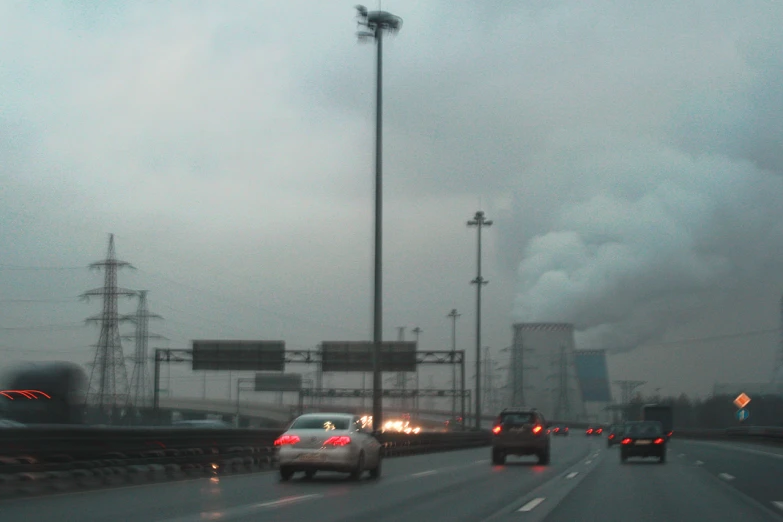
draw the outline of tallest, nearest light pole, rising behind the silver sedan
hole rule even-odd
[[[396,33],[402,27],[402,19],[386,11],[367,11],[356,6],[358,12],[359,40],[374,40],[376,44],[376,89],[375,89],[375,275],[373,285],[373,364],[372,364],[372,418],[373,431],[380,433],[383,425],[383,399],[381,383],[381,341],[382,322],[382,210],[383,210],[383,33]]]

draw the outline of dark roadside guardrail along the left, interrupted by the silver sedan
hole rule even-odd
[[[0,430],[0,496],[186,477],[275,465],[280,429],[25,427]],[[487,446],[489,432],[384,433],[385,457]]]

